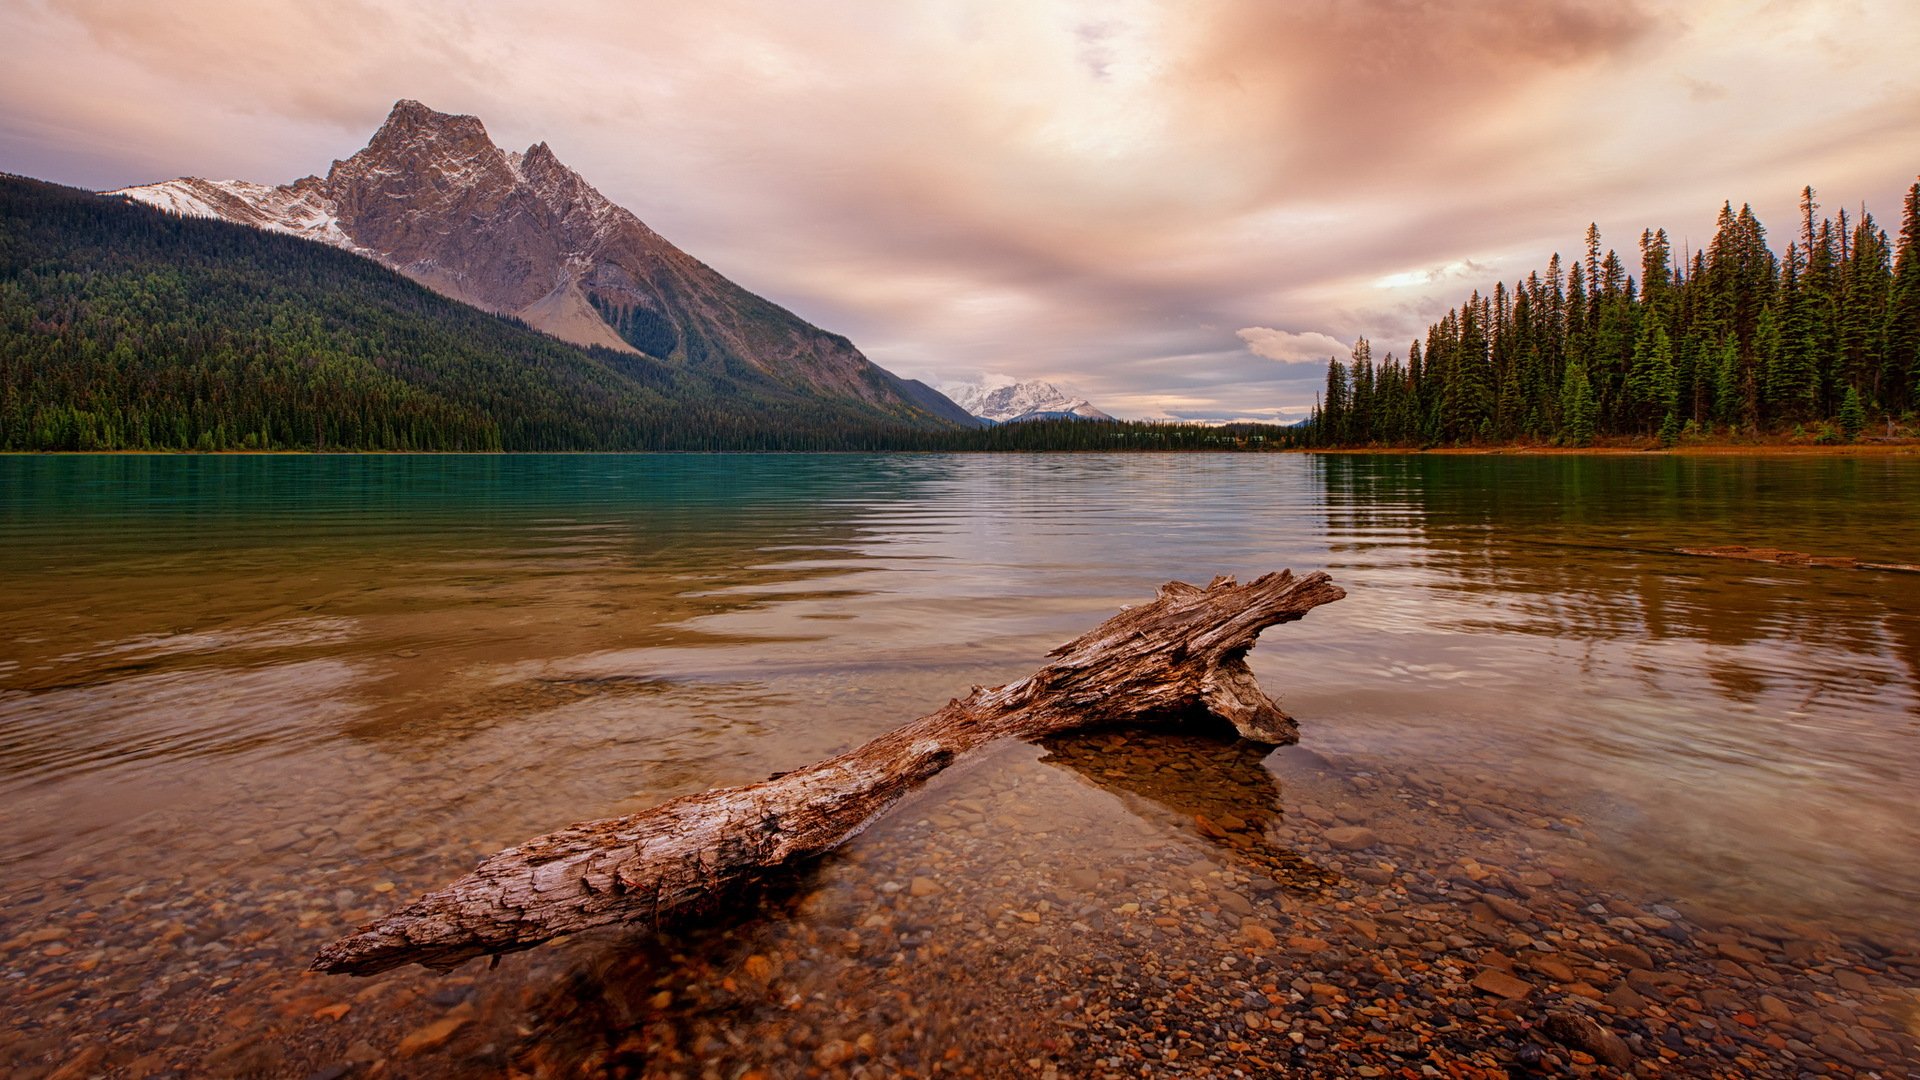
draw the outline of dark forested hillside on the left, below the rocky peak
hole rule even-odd
[[[574,346],[326,244],[0,173],[0,452],[937,450],[981,434]]]

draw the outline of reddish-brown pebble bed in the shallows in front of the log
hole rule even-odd
[[[1010,748],[724,920],[589,934],[449,976],[300,974],[313,945],[432,880],[344,888],[321,911],[259,859],[253,878],[159,890],[161,903],[73,876],[27,896],[38,917],[0,942],[0,1070],[1893,1078],[1920,1065],[1910,930],[1653,896],[1607,872],[1551,792],[1438,765],[1263,759],[1158,734]]]

